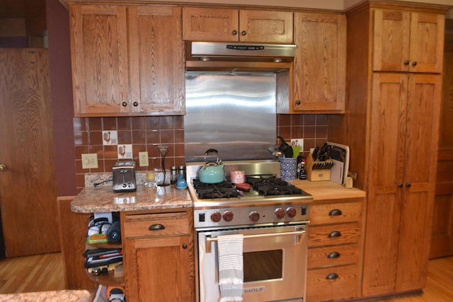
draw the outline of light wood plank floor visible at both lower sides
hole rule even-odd
[[[0,260],[0,294],[64,289],[62,255],[34,255]],[[379,302],[453,301],[453,257],[430,260],[427,286],[421,296],[375,300]]]

